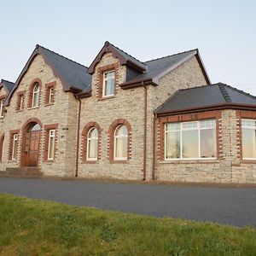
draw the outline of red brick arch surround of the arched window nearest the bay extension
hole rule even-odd
[[[119,125],[125,125],[128,131],[127,160],[131,159],[131,125],[126,119],[116,119],[108,128],[108,160],[113,161],[114,131]],[[122,162],[122,161],[118,161]]]

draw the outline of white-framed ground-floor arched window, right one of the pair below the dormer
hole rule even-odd
[[[127,160],[128,131],[125,125],[119,125],[114,131],[114,160]]]

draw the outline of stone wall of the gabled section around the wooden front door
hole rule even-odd
[[[29,86],[33,79],[41,79],[42,88],[40,91],[39,108],[27,108]],[[55,102],[53,105],[44,104],[45,84],[55,82]],[[17,93],[26,90],[25,109],[16,110]],[[70,176],[73,175],[75,166],[76,147],[76,122],[77,122],[78,101],[73,93],[64,92],[61,80],[56,78],[51,68],[44,62],[42,55],[37,55],[32,61],[19,87],[12,96],[7,114],[0,120],[0,134],[4,133],[3,161],[0,163],[0,170],[6,167],[20,166],[21,127],[28,119],[37,118],[43,124],[43,131],[40,138],[39,166],[44,175]],[[44,125],[58,124],[55,160],[44,161]],[[9,131],[20,130],[18,160],[9,160]],[[68,149],[68,150],[67,150]]]

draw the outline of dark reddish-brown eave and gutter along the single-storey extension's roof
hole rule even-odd
[[[161,116],[177,115],[177,114],[184,114],[184,113],[199,113],[199,112],[224,110],[224,109],[256,111],[256,104],[240,104],[240,103],[227,102],[227,103],[218,104],[218,105],[202,106],[202,107],[196,107],[196,108],[183,108],[183,109],[176,109],[173,111],[163,111],[163,112],[155,111],[154,114],[156,114],[158,117],[161,117]]]

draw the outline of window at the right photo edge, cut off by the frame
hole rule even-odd
[[[256,159],[256,120],[241,119],[242,158]]]

